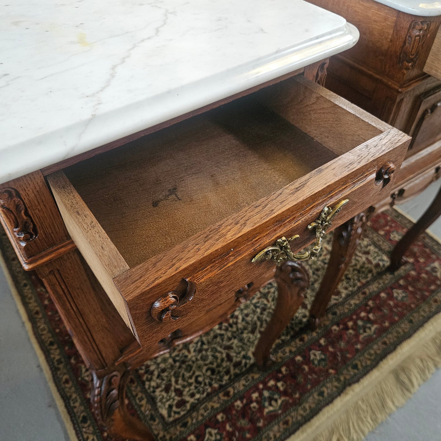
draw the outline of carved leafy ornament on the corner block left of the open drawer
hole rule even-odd
[[[25,246],[37,238],[37,225],[15,188],[6,187],[0,190],[0,208],[20,245]]]

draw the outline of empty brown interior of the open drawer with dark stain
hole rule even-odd
[[[286,80],[64,173],[132,268],[382,132],[311,86]]]

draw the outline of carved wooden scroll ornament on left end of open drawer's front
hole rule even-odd
[[[196,284],[182,279],[178,288],[163,295],[153,303],[150,314],[157,321],[177,320],[176,309],[190,302],[196,293]]]

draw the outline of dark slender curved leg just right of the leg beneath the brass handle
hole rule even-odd
[[[335,229],[328,267],[311,306],[310,329],[315,330],[320,325],[320,319],[325,315],[329,300],[354,256],[367,217],[366,213],[359,213]]]

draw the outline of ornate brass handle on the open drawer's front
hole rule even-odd
[[[280,266],[285,260],[302,261],[313,259],[321,249],[321,240],[323,239],[326,230],[332,225],[331,220],[348,202],[349,199],[344,199],[333,208],[325,207],[321,211],[320,217],[315,222],[308,225],[308,229],[315,229],[316,237],[315,245],[310,250],[304,252],[303,254],[294,254],[291,251],[289,244],[292,240],[299,239],[300,236],[296,234],[288,239],[282,236],[280,239],[277,239],[275,245],[266,247],[260,253],[256,254],[251,262],[254,263],[262,262],[263,260],[273,260],[276,262],[277,266]]]

